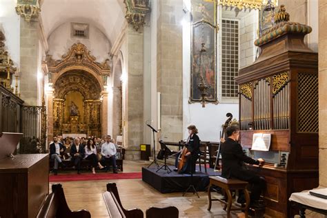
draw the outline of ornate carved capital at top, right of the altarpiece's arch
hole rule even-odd
[[[124,0],[126,5],[126,20],[136,31],[146,23],[146,14],[150,11],[149,0]]]

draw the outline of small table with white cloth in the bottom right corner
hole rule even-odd
[[[290,199],[288,200],[299,208],[299,215],[301,218],[306,217],[306,209],[327,215],[327,199],[315,197],[310,195],[309,192],[295,192],[290,195]]]

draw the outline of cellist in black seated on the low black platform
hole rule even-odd
[[[199,158],[199,154],[200,154],[200,139],[197,136],[197,127],[194,125],[190,125],[188,126],[188,140],[186,141],[185,147],[183,149],[187,149],[187,152],[185,153],[185,158],[186,158],[186,162],[183,166],[183,168],[181,168],[181,170],[179,170],[179,173],[194,173],[195,172],[195,163],[197,161],[197,159]],[[180,159],[180,155],[182,154],[182,150],[180,150],[177,155],[176,155],[176,161],[175,161],[175,166],[176,169],[175,171],[177,171],[177,166],[179,164],[179,159]]]

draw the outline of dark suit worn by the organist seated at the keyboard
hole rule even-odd
[[[265,181],[251,170],[246,169],[244,162],[259,165],[259,161],[244,154],[241,145],[237,141],[227,138],[221,144],[221,176],[227,179],[235,178],[248,181],[252,184],[250,195],[252,203],[259,199],[261,190],[264,189]]]

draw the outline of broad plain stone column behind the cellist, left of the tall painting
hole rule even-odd
[[[157,91],[161,92],[161,136],[183,139],[183,1],[159,1]]]

